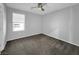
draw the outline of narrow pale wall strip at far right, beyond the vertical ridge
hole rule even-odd
[[[72,43],[79,46],[79,5],[72,7]]]

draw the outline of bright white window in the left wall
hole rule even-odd
[[[13,13],[13,31],[23,31],[25,25],[25,15]]]

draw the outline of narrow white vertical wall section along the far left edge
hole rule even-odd
[[[0,3],[0,52],[6,44],[6,14],[4,4]]]

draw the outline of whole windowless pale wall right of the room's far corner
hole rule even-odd
[[[43,33],[79,46],[79,5],[45,15]]]

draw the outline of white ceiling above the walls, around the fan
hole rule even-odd
[[[19,10],[24,10],[40,15],[44,15],[50,12],[54,12],[56,10],[60,10],[72,5],[75,5],[77,3],[47,3],[47,5],[44,6],[45,11],[41,11],[40,9],[31,9],[31,7],[35,7],[37,4],[36,3],[6,3],[8,7],[19,9]]]

